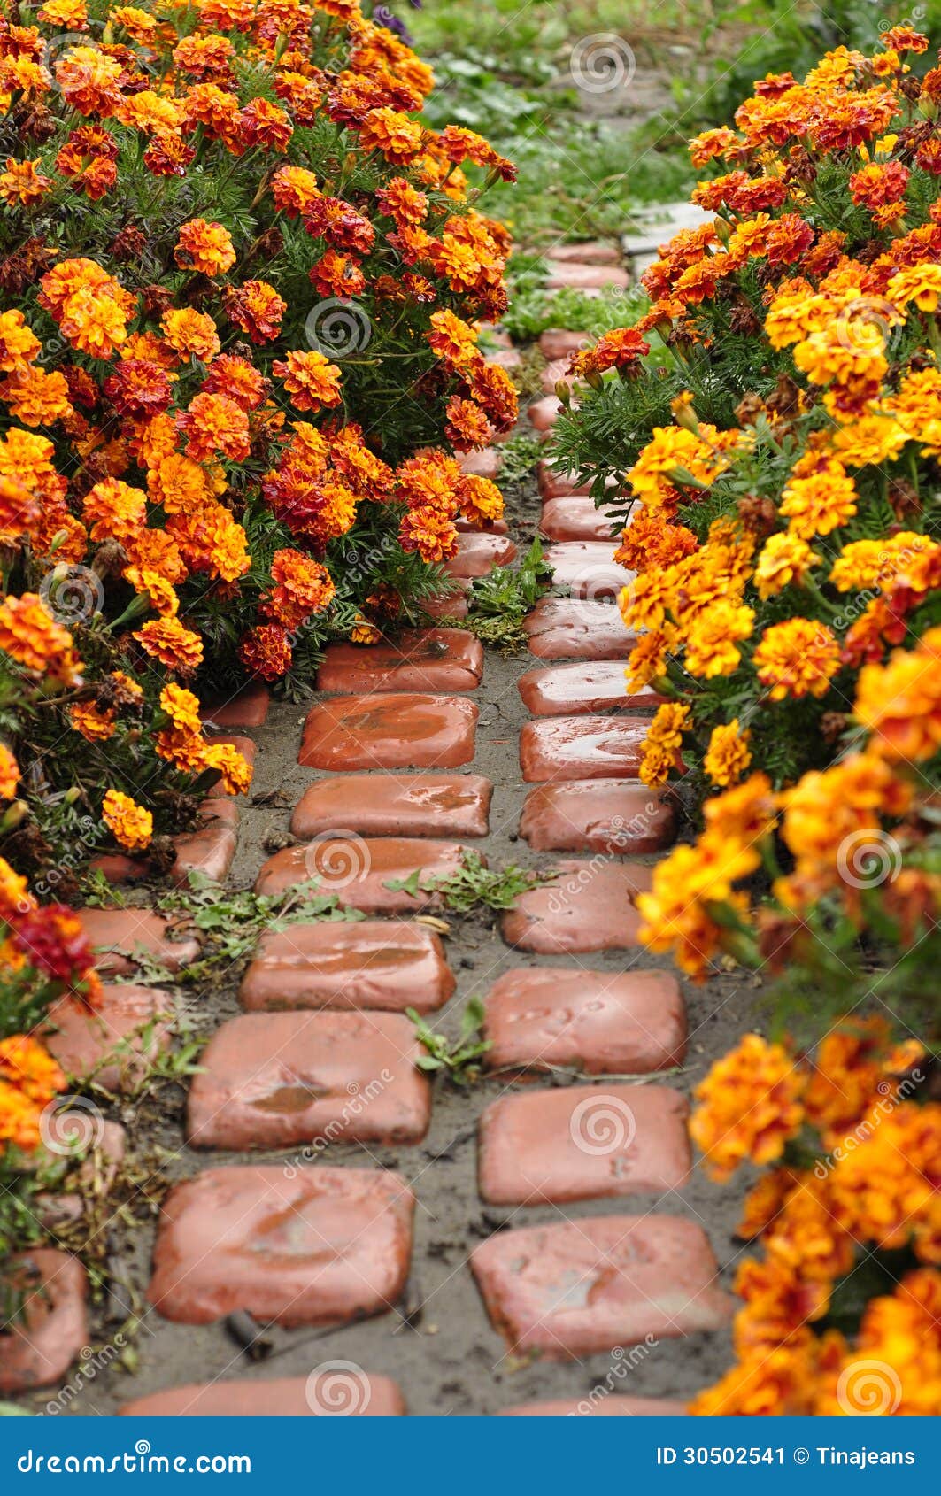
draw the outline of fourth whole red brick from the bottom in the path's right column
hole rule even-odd
[[[640,922],[630,901],[649,889],[651,869],[624,862],[561,862],[557,868],[554,883],[521,893],[503,916],[507,945],[540,956],[633,950]]]

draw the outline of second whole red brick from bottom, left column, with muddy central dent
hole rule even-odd
[[[398,1013],[242,1013],[200,1056],[190,1083],[193,1147],[419,1143],[431,1091],[425,1050]]]

